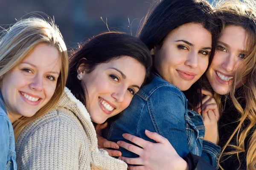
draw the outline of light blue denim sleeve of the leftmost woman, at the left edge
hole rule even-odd
[[[5,170],[9,152],[9,123],[3,115],[0,115],[0,136],[0,169]]]

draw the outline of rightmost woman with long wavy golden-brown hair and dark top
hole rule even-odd
[[[220,113],[219,167],[256,169],[256,3],[221,1],[223,31],[206,77]],[[225,95],[227,94],[227,95]],[[206,127],[207,128],[207,127]]]

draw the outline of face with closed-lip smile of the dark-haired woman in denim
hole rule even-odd
[[[211,49],[211,33],[201,24],[187,23],[154,48],[154,66],[163,79],[186,91],[206,71]]]

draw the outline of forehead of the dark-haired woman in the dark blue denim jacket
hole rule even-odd
[[[212,34],[199,23],[186,23],[174,29],[168,35],[170,40],[186,40],[192,44],[210,47]]]

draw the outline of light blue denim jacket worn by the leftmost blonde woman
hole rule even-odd
[[[15,139],[0,91],[0,170],[17,170]]]

